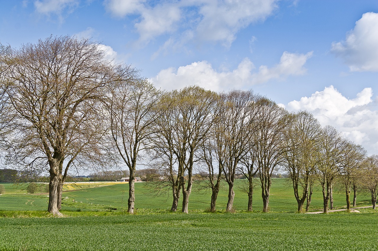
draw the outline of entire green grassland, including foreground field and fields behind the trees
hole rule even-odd
[[[99,184],[98,184],[99,185]],[[9,187],[12,187],[9,184]],[[283,179],[275,179],[270,213],[262,213],[260,190],[254,193],[254,212],[246,212],[247,196],[235,189],[236,213],[224,213],[227,190],[217,212],[207,213],[209,191],[194,190],[189,214],[169,211],[167,195],[155,197],[145,183],[136,183],[136,214],[127,210],[128,184],[75,187],[64,192],[62,213],[46,214],[46,194],[0,196],[0,250],[376,250],[378,213],[296,213],[296,201]],[[369,205],[368,194],[358,204]],[[345,206],[342,191],[334,204]],[[311,211],[322,207],[319,188]],[[17,210],[17,211],[15,211]]]

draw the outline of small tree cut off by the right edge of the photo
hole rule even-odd
[[[364,161],[363,183],[372,196],[373,209],[375,209],[378,196],[378,155],[372,155]]]

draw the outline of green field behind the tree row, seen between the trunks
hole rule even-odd
[[[235,184],[234,208],[246,210],[248,197],[241,190],[242,180]],[[273,179],[269,206],[271,211],[295,212],[297,203],[292,188],[288,186],[285,179]],[[146,188],[147,183],[135,184],[135,208],[163,209],[169,210],[172,205],[172,195],[163,194],[155,197]],[[210,205],[210,191],[197,191],[197,184],[194,184],[189,197],[189,210],[206,210]],[[83,188],[87,187],[82,186]],[[217,210],[224,211],[228,199],[228,187],[224,186],[218,194]],[[129,196],[129,184],[107,185],[102,187],[77,189],[63,193],[63,210],[127,210],[127,199]],[[367,194],[358,194],[358,206],[371,205]],[[179,202],[178,210],[181,210],[182,199]],[[48,194],[5,194],[0,196],[0,210],[43,210],[47,209]],[[335,208],[345,207],[345,195],[342,191],[334,191]],[[311,202],[311,211],[321,210],[323,206],[322,193],[320,188],[315,189]],[[261,188],[256,187],[254,193],[253,207],[255,211],[262,210]]]

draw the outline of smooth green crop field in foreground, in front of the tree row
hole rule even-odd
[[[376,250],[371,211],[0,218],[0,250]]]

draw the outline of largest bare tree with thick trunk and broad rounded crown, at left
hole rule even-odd
[[[42,159],[50,174],[48,211],[60,214],[61,188],[79,158],[101,155],[106,128],[98,100],[106,84],[129,67],[105,59],[88,39],[48,37],[11,49],[3,59],[9,122],[16,127],[9,154],[29,164]],[[100,120],[100,121],[99,121]],[[31,165],[29,165],[31,166]]]

